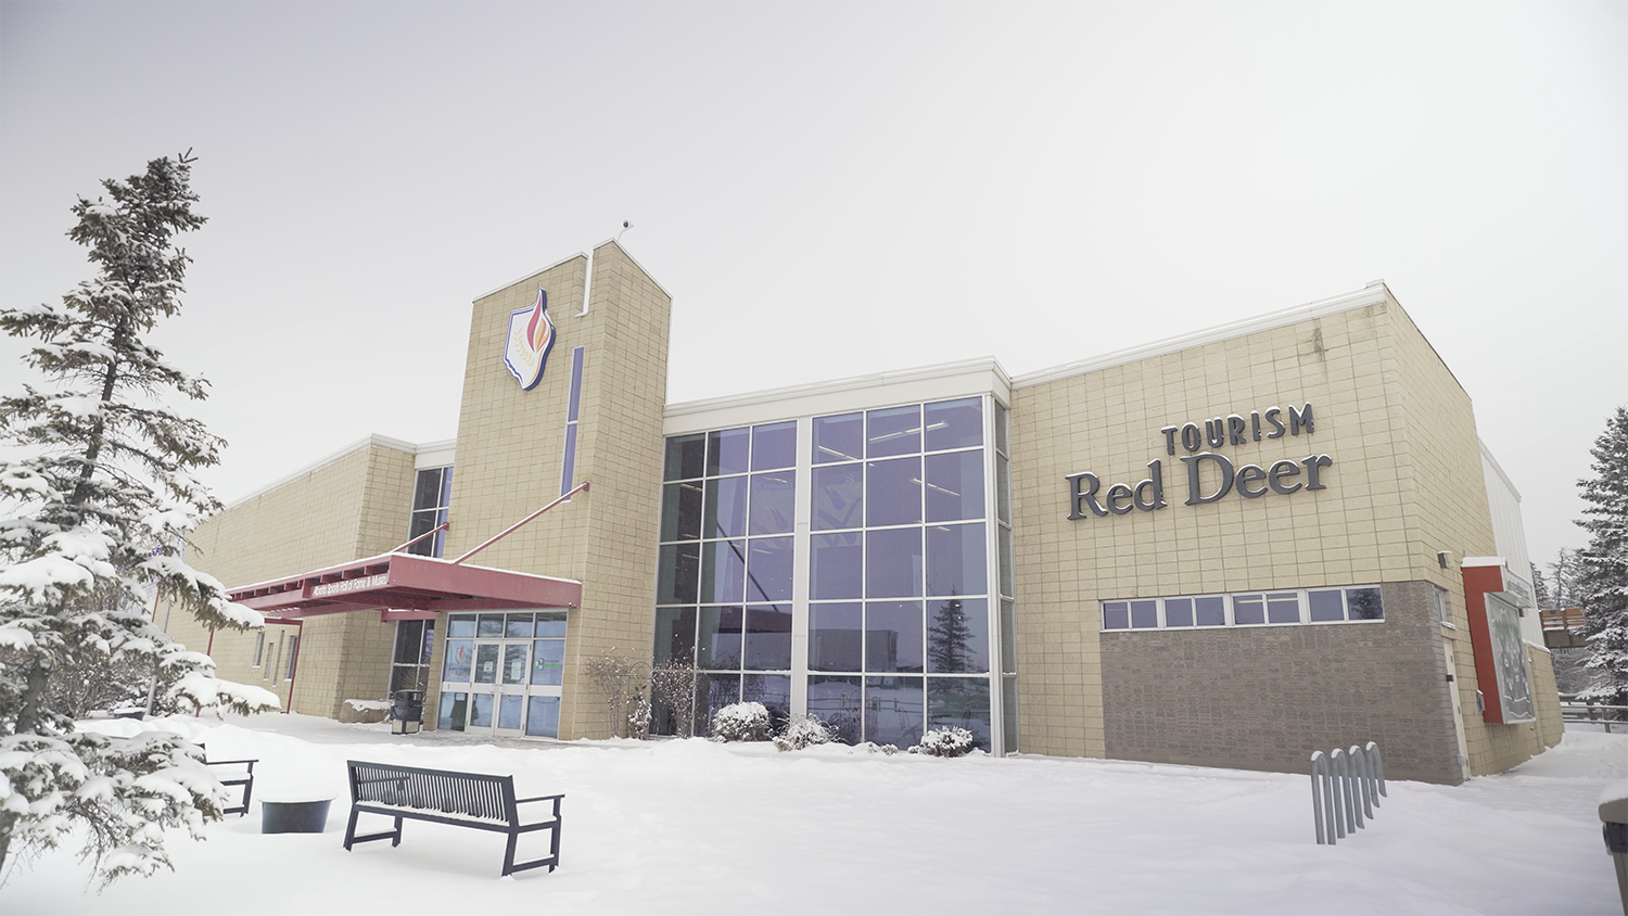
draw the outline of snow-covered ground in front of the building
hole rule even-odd
[[[1628,776],[1620,734],[1568,732],[1459,787],[1390,783],[1372,825],[1328,848],[1314,843],[1307,778],[1278,773],[705,740],[539,747],[277,714],[155,726],[218,760],[259,758],[256,799],[334,796],[327,831],[262,835],[256,804],[205,843],[176,835],[173,874],[101,895],[59,851],[13,870],[0,913],[1618,911],[1595,800]],[[422,822],[399,848],[345,853],[347,758],[565,792],[560,870],[500,879],[501,836]]]

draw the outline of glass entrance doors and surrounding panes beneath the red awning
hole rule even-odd
[[[563,669],[563,610],[454,613],[436,727],[558,737]]]

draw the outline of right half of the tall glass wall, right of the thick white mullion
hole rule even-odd
[[[812,421],[807,711],[845,740],[990,747],[983,420],[967,397]]]

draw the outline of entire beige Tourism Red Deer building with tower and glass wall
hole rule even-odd
[[[1299,771],[1377,740],[1459,783],[1560,740],[1519,493],[1382,283],[1017,377],[690,403],[667,321],[615,242],[480,296],[457,439],[202,524],[194,565],[287,623],[174,633],[301,713],[423,685],[425,727],[492,734],[610,734],[584,664],[628,654],[694,662],[700,716],[879,744]]]

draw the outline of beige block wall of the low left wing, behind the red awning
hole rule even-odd
[[[384,553],[407,540],[412,480],[412,452],[366,444],[210,517],[192,534],[187,560],[236,587]],[[190,648],[212,641],[179,613],[169,617],[168,630]],[[257,633],[215,633],[220,675],[267,687],[287,708],[295,633],[287,625],[267,626],[259,665]],[[373,613],[340,613],[311,618],[300,633],[296,713],[337,718],[345,700],[384,696],[394,625]]]

